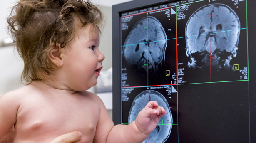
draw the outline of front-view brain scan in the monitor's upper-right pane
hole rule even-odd
[[[229,6],[211,4],[199,8],[189,18],[185,32],[190,69],[204,71],[210,66],[216,72],[232,69],[229,63],[236,57],[240,21]]]

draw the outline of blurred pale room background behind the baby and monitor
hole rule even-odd
[[[7,34],[6,18],[10,15],[10,7],[17,0],[0,0],[0,94],[22,87],[19,83],[23,69],[23,61],[17,54]],[[99,50],[105,55],[103,69],[98,84],[88,91],[96,93],[104,102],[109,116],[112,118],[112,5],[131,0],[91,0],[102,10],[106,26],[102,30]]]

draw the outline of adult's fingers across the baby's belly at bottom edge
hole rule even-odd
[[[73,143],[75,141],[78,141],[82,138],[82,133],[80,131],[75,131],[71,133],[67,133],[65,135],[61,135],[57,138],[55,138],[50,143]]]

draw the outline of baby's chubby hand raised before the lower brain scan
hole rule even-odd
[[[159,119],[166,114],[163,107],[158,106],[157,101],[150,101],[139,112],[135,124],[139,131],[149,135],[157,127]]]

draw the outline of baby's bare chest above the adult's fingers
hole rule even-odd
[[[17,139],[27,140],[28,137],[43,143],[72,131],[81,131],[80,143],[92,143],[98,119],[99,106],[90,99],[45,98],[22,107],[17,115],[15,134]]]

